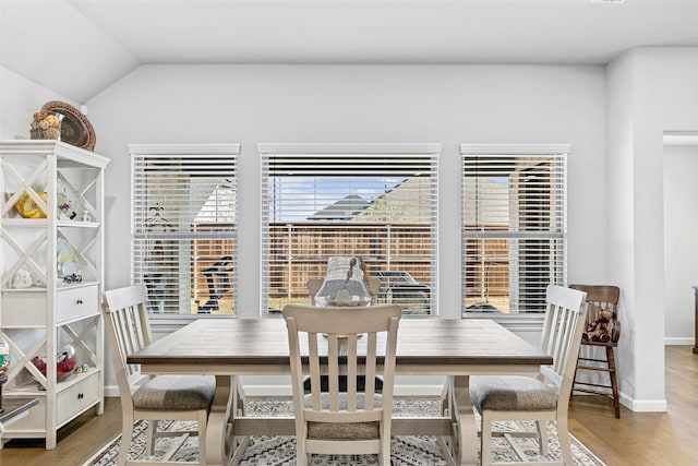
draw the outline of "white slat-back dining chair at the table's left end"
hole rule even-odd
[[[189,435],[197,434],[198,462],[206,464],[206,434],[208,411],[216,391],[213,375],[157,375],[141,373],[139,365],[127,365],[127,356],[152,342],[147,315],[148,297],[144,284],[137,284],[105,292],[104,314],[109,340],[109,353],[117,374],[121,397],[121,445],[119,466],[158,465],[167,463]],[[129,446],[133,439],[133,421],[148,420],[146,456],[128,461]],[[157,431],[159,420],[193,420],[196,430]],[[156,439],[173,437],[172,446],[161,461],[154,461]],[[172,464],[172,463],[169,463]]]

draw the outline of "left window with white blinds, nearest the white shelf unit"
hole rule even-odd
[[[238,144],[131,144],[132,277],[151,312],[234,314]]]

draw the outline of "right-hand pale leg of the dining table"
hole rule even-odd
[[[454,420],[453,454],[456,465],[478,463],[478,427],[468,391],[468,375],[449,377],[452,419]]]

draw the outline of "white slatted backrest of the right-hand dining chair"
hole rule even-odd
[[[542,368],[541,373],[555,385],[561,398],[569,397],[581,333],[586,325],[586,292],[580,290],[555,285],[547,287],[547,312],[541,349],[553,357],[553,363]]]

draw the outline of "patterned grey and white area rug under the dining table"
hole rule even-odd
[[[248,416],[290,416],[293,413],[291,402],[287,401],[249,401],[245,405]],[[397,399],[393,409],[395,417],[400,416],[437,416],[438,402],[434,399]],[[160,422],[158,429],[172,430],[181,428],[185,421]],[[498,429],[512,431],[531,430],[528,422],[502,422]],[[136,421],[134,425],[134,441],[131,443],[129,457],[136,459],[145,451],[145,435],[147,421]],[[549,454],[541,457],[538,454],[538,444],[531,439],[517,439],[518,446],[526,452],[530,461],[554,462],[562,457],[559,443],[554,423],[549,423]],[[112,442],[103,447],[83,466],[115,466],[119,455],[119,442],[117,437]],[[576,466],[605,466],[581,442],[570,435],[574,464]],[[161,439],[156,444],[155,456],[163,456],[169,450],[172,439]],[[514,450],[503,439],[495,439],[493,457],[495,461],[518,461]],[[198,451],[197,439],[188,439],[178,451],[173,461],[195,461]],[[442,452],[433,437],[395,437],[392,443],[390,463],[393,466],[441,466],[446,465]],[[252,437],[250,446],[240,463],[243,466],[291,466],[296,464],[296,439],[293,437]],[[320,466],[374,466],[378,464],[375,455],[314,455],[312,465]]]

